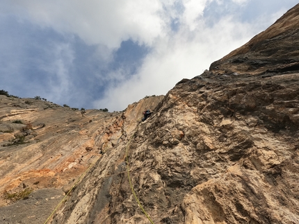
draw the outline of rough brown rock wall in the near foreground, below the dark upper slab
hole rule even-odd
[[[298,84],[299,74],[219,83],[207,72],[172,89],[129,144],[134,190],[154,223],[297,223]],[[129,186],[127,141],[53,223],[149,223]]]

